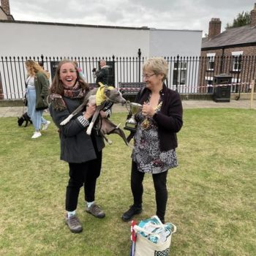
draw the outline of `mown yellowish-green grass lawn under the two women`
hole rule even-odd
[[[50,120],[50,116],[47,116]],[[112,120],[124,124],[126,113]],[[64,224],[67,163],[59,160],[59,135],[50,124],[31,139],[33,127],[0,118],[0,255],[129,255],[130,226],[121,214],[132,203],[131,148],[117,135],[106,145],[97,203],[105,219],[83,211],[83,233]],[[170,255],[256,255],[256,111],[184,110],[178,133],[179,166],[167,176],[166,221],[177,226]],[[155,214],[151,176],[144,180],[143,213]]]

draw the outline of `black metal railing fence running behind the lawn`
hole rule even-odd
[[[25,61],[33,59],[50,72],[50,83],[59,61],[71,59],[77,61],[83,69],[88,83],[95,83],[91,72],[99,67],[99,60],[105,59],[110,67],[110,83],[118,87],[119,83],[143,82],[142,66],[146,58],[138,57],[7,57],[0,60],[0,98],[22,99],[25,91]],[[212,94],[214,75],[225,73],[232,76],[231,92],[249,92],[249,83],[256,78],[256,56],[170,56],[165,57],[169,71],[167,87],[180,94]]]

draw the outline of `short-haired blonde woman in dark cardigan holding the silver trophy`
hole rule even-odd
[[[142,211],[143,178],[149,173],[154,181],[156,214],[165,223],[167,173],[170,168],[178,166],[176,133],[183,124],[181,98],[178,92],[165,85],[167,71],[167,62],[162,58],[151,58],[143,64],[146,88],[141,89],[135,99],[142,108],[135,116],[138,125],[132,151],[133,204],[122,215],[125,222]]]

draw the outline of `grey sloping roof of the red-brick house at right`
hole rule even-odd
[[[256,45],[256,26],[230,28],[211,39],[202,39],[202,50]]]

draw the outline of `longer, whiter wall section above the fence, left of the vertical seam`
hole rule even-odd
[[[149,30],[1,23],[4,56],[138,56],[148,54]]]

